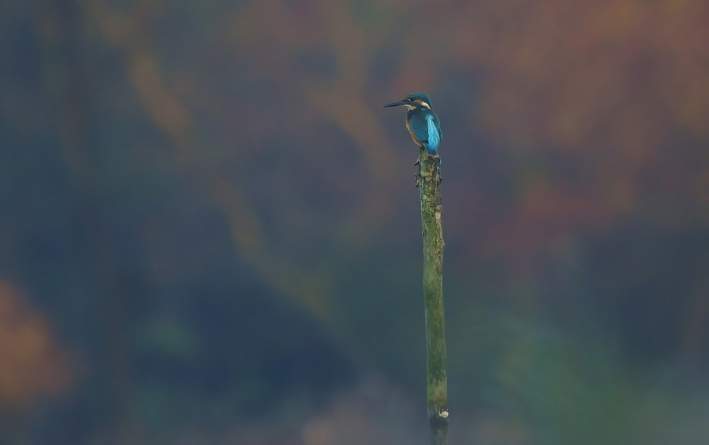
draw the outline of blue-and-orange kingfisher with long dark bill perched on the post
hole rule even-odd
[[[406,113],[406,128],[408,128],[413,142],[421,147],[421,150],[426,150],[428,154],[435,157],[437,164],[440,164],[438,157],[438,144],[441,142],[443,134],[441,126],[438,122],[438,116],[431,111],[431,99],[425,93],[411,93],[401,101],[389,103],[384,107],[389,106],[405,106],[408,108]]]

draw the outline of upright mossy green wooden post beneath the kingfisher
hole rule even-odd
[[[423,229],[423,297],[426,316],[426,376],[429,444],[448,443],[448,391],[443,317],[443,227],[440,169],[424,150],[416,184],[421,193]]]

